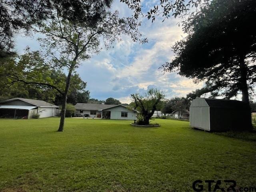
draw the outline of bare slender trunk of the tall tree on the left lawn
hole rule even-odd
[[[69,72],[68,72],[68,77],[66,80],[66,87],[65,87],[65,91],[63,94],[63,103],[62,103],[62,109],[61,109],[61,115],[60,115],[60,126],[58,131],[62,132],[64,130],[64,120],[65,120],[65,114],[66,114],[66,103],[67,103],[67,98],[68,98],[68,89],[70,87],[70,79],[71,79],[71,75],[72,75],[72,70],[74,67],[70,67]]]

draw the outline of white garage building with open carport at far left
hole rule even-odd
[[[56,106],[42,100],[13,98],[0,102],[0,118],[39,118],[52,117],[56,114]]]

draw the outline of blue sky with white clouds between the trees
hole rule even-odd
[[[150,10],[154,1],[142,1],[143,10]],[[131,16],[132,11],[120,0],[114,1],[112,10],[118,10],[120,16]],[[140,32],[148,38],[148,43],[133,42],[129,36],[122,36],[122,41],[116,42],[113,48],[94,55],[81,63],[77,69],[90,91],[90,98],[106,100],[113,97],[122,103],[130,103],[130,94],[143,94],[148,88],[162,90],[166,99],[186,94],[203,87],[203,82],[195,84],[192,79],[178,75],[176,72],[163,73],[158,69],[174,54],[171,46],[186,36],[178,27],[179,20],[171,17],[164,22],[159,17],[155,22],[142,18]],[[16,50],[22,54],[24,48],[39,50],[36,40],[38,36],[16,37]]]

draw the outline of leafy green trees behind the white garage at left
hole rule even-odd
[[[0,79],[0,100],[24,97],[59,105],[66,74],[47,64],[38,51],[27,50],[24,55],[0,63]],[[86,82],[78,74],[73,74],[68,102],[75,104],[87,100],[90,93],[85,88]]]

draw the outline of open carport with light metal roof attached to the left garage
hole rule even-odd
[[[1,105],[0,118],[32,118],[37,113],[36,106]]]

